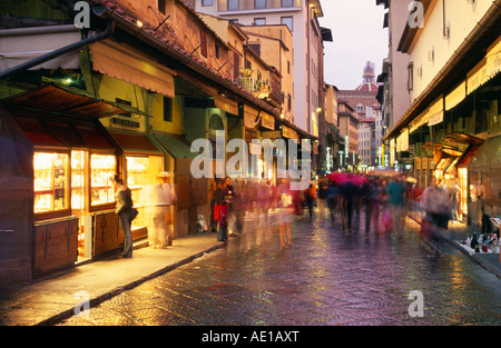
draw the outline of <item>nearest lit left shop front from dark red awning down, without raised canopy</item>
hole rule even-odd
[[[117,249],[110,177],[120,150],[99,121],[12,115],[33,145],[33,275]]]

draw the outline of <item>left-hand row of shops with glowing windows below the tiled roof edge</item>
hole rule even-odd
[[[160,171],[170,172],[177,196],[174,236],[180,237],[196,232],[198,215],[210,216],[214,177],[191,176],[198,155],[190,151],[191,141],[215,142],[222,131],[226,140],[247,142],[315,140],[281,119],[279,109],[235,88],[213,69],[185,63],[179,49],[165,44],[166,56],[153,59],[159,57],[158,48],[138,42],[122,17],[114,12],[106,18],[122,24],[117,38],[1,82],[0,286],[120,249],[114,175],[122,177],[139,206],[132,225],[137,240],[147,236],[148,226],[141,189],[155,183]],[[24,40],[24,51],[35,52],[36,29],[28,40],[16,30],[2,36]],[[67,29],[49,30],[50,39],[76,34],[75,28]],[[47,32],[40,28],[38,39]],[[258,177],[276,180],[276,159],[274,163],[261,166]]]

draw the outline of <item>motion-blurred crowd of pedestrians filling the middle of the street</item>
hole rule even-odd
[[[209,192],[212,213],[207,229],[216,232],[220,241],[239,236],[243,245],[246,238],[253,238],[263,246],[273,216],[273,222],[278,223],[281,248],[285,248],[291,243],[293,219],[313,219],[315,207],[347,235],[355,229],[363,229],[366,236],[401,233],[405,216],[413,211],[422,216],[425,227],[446,228],[451,219],[458,219],[458,185],[442,185],[435,179],[423,190],[415,185],[415,179],[402,175],[371,177],[334,172],[311,181],[303,191],[292,190],[287,179],[278,179],[276,185],[269,179],[217,179]],[[325,209],[328,215],[323,213]],[[246,228],[252,233],[244,233],[246,223],[252,223]]]

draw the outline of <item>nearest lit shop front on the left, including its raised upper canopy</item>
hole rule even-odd
[[[124,111],[52,86],[2,105],[32,147],[26,217],[31,276],[119,249],[124,237],[110,178],[124,166],[122,151],[99,118]]]

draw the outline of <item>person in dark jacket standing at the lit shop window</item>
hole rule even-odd
[[[118,176],[110,178],[114,183],[116,195],[115,213],[118,215],[121,230],[124,231],[124,251],[118,255],[118,258],[132,257],[132,231],[131,223],[135,218],[132,210],[132,197],[130,189],[124,183],[124,180]]]

